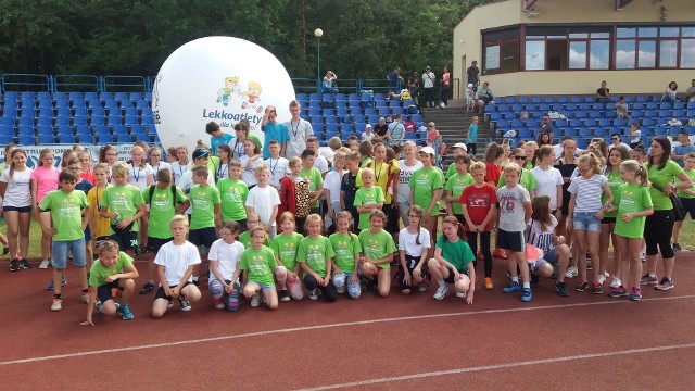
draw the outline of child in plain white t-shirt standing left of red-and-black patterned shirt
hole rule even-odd
[[[270,171],[265,164],[256,167],[255,176],[257,185],[249,190],[245,203],[247,214],[249,212],[257,213],[266,232],[273,239],[277,231],[275,220],[278,216],[280,197],[275,188],[268,186]]]

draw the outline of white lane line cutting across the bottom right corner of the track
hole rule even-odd
[[[378,384],[378,383],[384,383],[384,382],[404,381],[404,380],[413,380],[413,379],[429,378],[429,377],[437,377],[437,376],[450,376],[450,375],[469,374],[469,373],[477,373],[477,371],[484,371],[484,370],[517,368],[517,367],[539,365],[539,364],[561,363],[561,362],[586,360],[586,358],[614,357],[614,356],[621,356],[621,355],[635,354],[635,353],[664,352],[664,351],[672,351],[677,349],[692,349],[692,348],[695,348],[695,343],[640,348],[640,349],[630,349],[630,350],[603,352],[603,353],[578,354],[578,355],[571,355],[571,356],[541,358],[541,360],[515,362],[515,363],[507,363],[507,364],[483,365],[483,366],[468,367],[468,368],[456,368],[456,369],[448,369],[448,370],[437,370],[437,371],[430,371],[430,373],[419,373],[419,374],[393,376],[393,377],[386,377],[386,378],[367,379],[367,380],[352,381],[352,382],[346,382],[341,384],[329,384],[329,386],[305,388],[296,391],[345,389],[351,387],[370,386],[370,384]]]

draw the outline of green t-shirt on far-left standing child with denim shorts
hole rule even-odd
[[[137,190],[137,189],[136,189]],[[50,211],[55,228],[54,241],[73,241],[85,237],[81,210],[89,206],[84,191],[53,190],[39,202],[41,211]]]

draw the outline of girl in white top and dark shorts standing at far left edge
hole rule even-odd
[[[22,268],[31,268],[26,256],[29,251],[31,225],[33,169],[26,166],[26,152],[22,149],[14,149],[9,160],[10,167],[2,171],[0,176],[0,199],[2,199],[2,214],[8,224],[10,272],[17,272]]]

